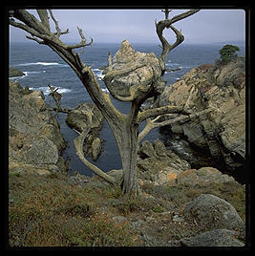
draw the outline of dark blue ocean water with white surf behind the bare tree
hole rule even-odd
[[[100,67],[107,65],[107,52],[112,56],[117,52],[119,44],[94,44],[87,47],[82,53],[81,58],[85,64],[92,66],[101,87],[106,90],[104,83],[101,81]],[[239,46],[244,55],[244,46]],[[156,44],[135,44],[133,48],[139,52],[156,53],[159,56],[160,48]],[[190,69],[205,64],[214,64],[215,59],[220,58],[219,51],[223,45],[181,45],[169,53],[167,67],[175,69],[181,67],[180,71],[167,72],[164,79],[167,85],[171,85],[186,74]],[[92,101],[87,94],[86,89],[79,81],[73,70],[53,51],[44,45],[38,45],[33,42],[29,43],[11,43],[10,45],[10,66],[13,66],[26,75],[14,77],[22,86],[29,86],[32,90],[41,90],[46,101],[53,105],[53,99],[48,94],[48,84],[58,87],[58,92],[62,94],[61,106],[74,108],[79,102]],[[122,113],[128,113],[130,105],[128,103],[114,100],[114,104]],[[68,142],[68,147],[64,152],[64,158],[71,158],[71,173],[78,171],[84,175],[91,176],[92,173],[78,159],[74,151],[74,139],[77,134],[70,129],[66,123],[66,114],[59,114],[58,121],[61,127],[61,133]],[[160,138],[159,129],[151,131],[145,139],[151,141]],[[103,152],[96,165],[104,171],[121,168],[121,162],[118,155],[117,144],[112,135],[108,124],[104,122],[103,129],[100,132],[100,138],[106,141],[103,144]],[[89,158],[89,160],[91,160]],[[91,160],[93,161],[93,160]]]

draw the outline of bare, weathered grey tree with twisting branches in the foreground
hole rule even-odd
[[[39,44],[49,46],[53,52],[57,53],[69,66],[74,70],[74,73],[83,83],[88,94],[96,104],[97,108],[101,111],[103,117],[107,120],[110,128],[113,131],[114,137],[117,140],[118,150],[122,161],[123,169],[123,182],[122,192],[124,194],[138,194],[138,178],[137,178],[137,154],[138,154],[138,141],[142,139],[150,130],[155,127],[170,124],[175,121],[190,119],[191,112],[183,106],[164,106],[157,107],[154,104],[152,108],[142,111],[140,109],[141,104],[149,97],[154,96],[155,100],[162,93],[165,81],[162,80],[166,68],[165,62],[167,54],[174,48],[179,46],[184,40],[184,36],[178,31],[173,24],[184,19],[199,10],[184,11],[179,15],[169,18],[171,10],[164,10],[165,18],[160,20],[156,24],[157,34],[161,42],[162,52],[159,54],[159,72],[156,72],[153,78],[148,82],[140,83],[138,86],[130,88],[130,96],[117,96],[113,91],[109,90],[112,96],[121,101],[131,102],[131,109],[129,114],[124,115],[120,113],[111,101],[109,95],[105,94],[99,83],[96,80],[96,75],[93,73],[90,67],[86,66],[80,59],[80,53],[83,53],[86,46],[93,43],[93,39],[89,43],[80,28],[77,27],[78,33],[81,37],[81,41],[74,45],[67,45],[60,40],[62,34],[68,33],[69,30],[62,32],[58,26],[58,21],[53,16],[53,11],[37,10],[39,19],[33,16],[29,11],[14,10],[10,11],[10,24],[21,30],[29,32],[31,35],[27,35],[27,38],[36,41]],[[49,16],[53,19],[55,25],[55,32],[51,31]],[[19,21],[19,22],[18,22]],[[174,44],[170,44],[163,36],[165,29],[171,29],[176,35],[176,41]],[[75,53],[74,49],[81,48],[80,53]],[[111,69],[111,56],[108,56],[108,64]],[[107,81],[115,77],[115,75],[127,73],[130,71],[110,72],[107,75],[108,79],[105,79],[106,86]],[[110,88],[109,88],[110,89]],[[180,117],[172,119],[170,121],[156,122],[161,115],[165,114],[181,114]],[[88,116],[88,120],[92,119],[92,114],[84,113]],[[193,116],[196,116],[195,114]],[[154,119],[151,119],[154,117]],[[143,131],[138,135],[139,124],[146,120],[146,125]],[[90,131],[90,127],[85,129],[78,138],[74,139],[74,146],[76,153],[80,160],[82,160],[93,172],[104,180],[116,183],[117,181],[100,170],[96,165],[84,158],[83,154],[83,141]]]

